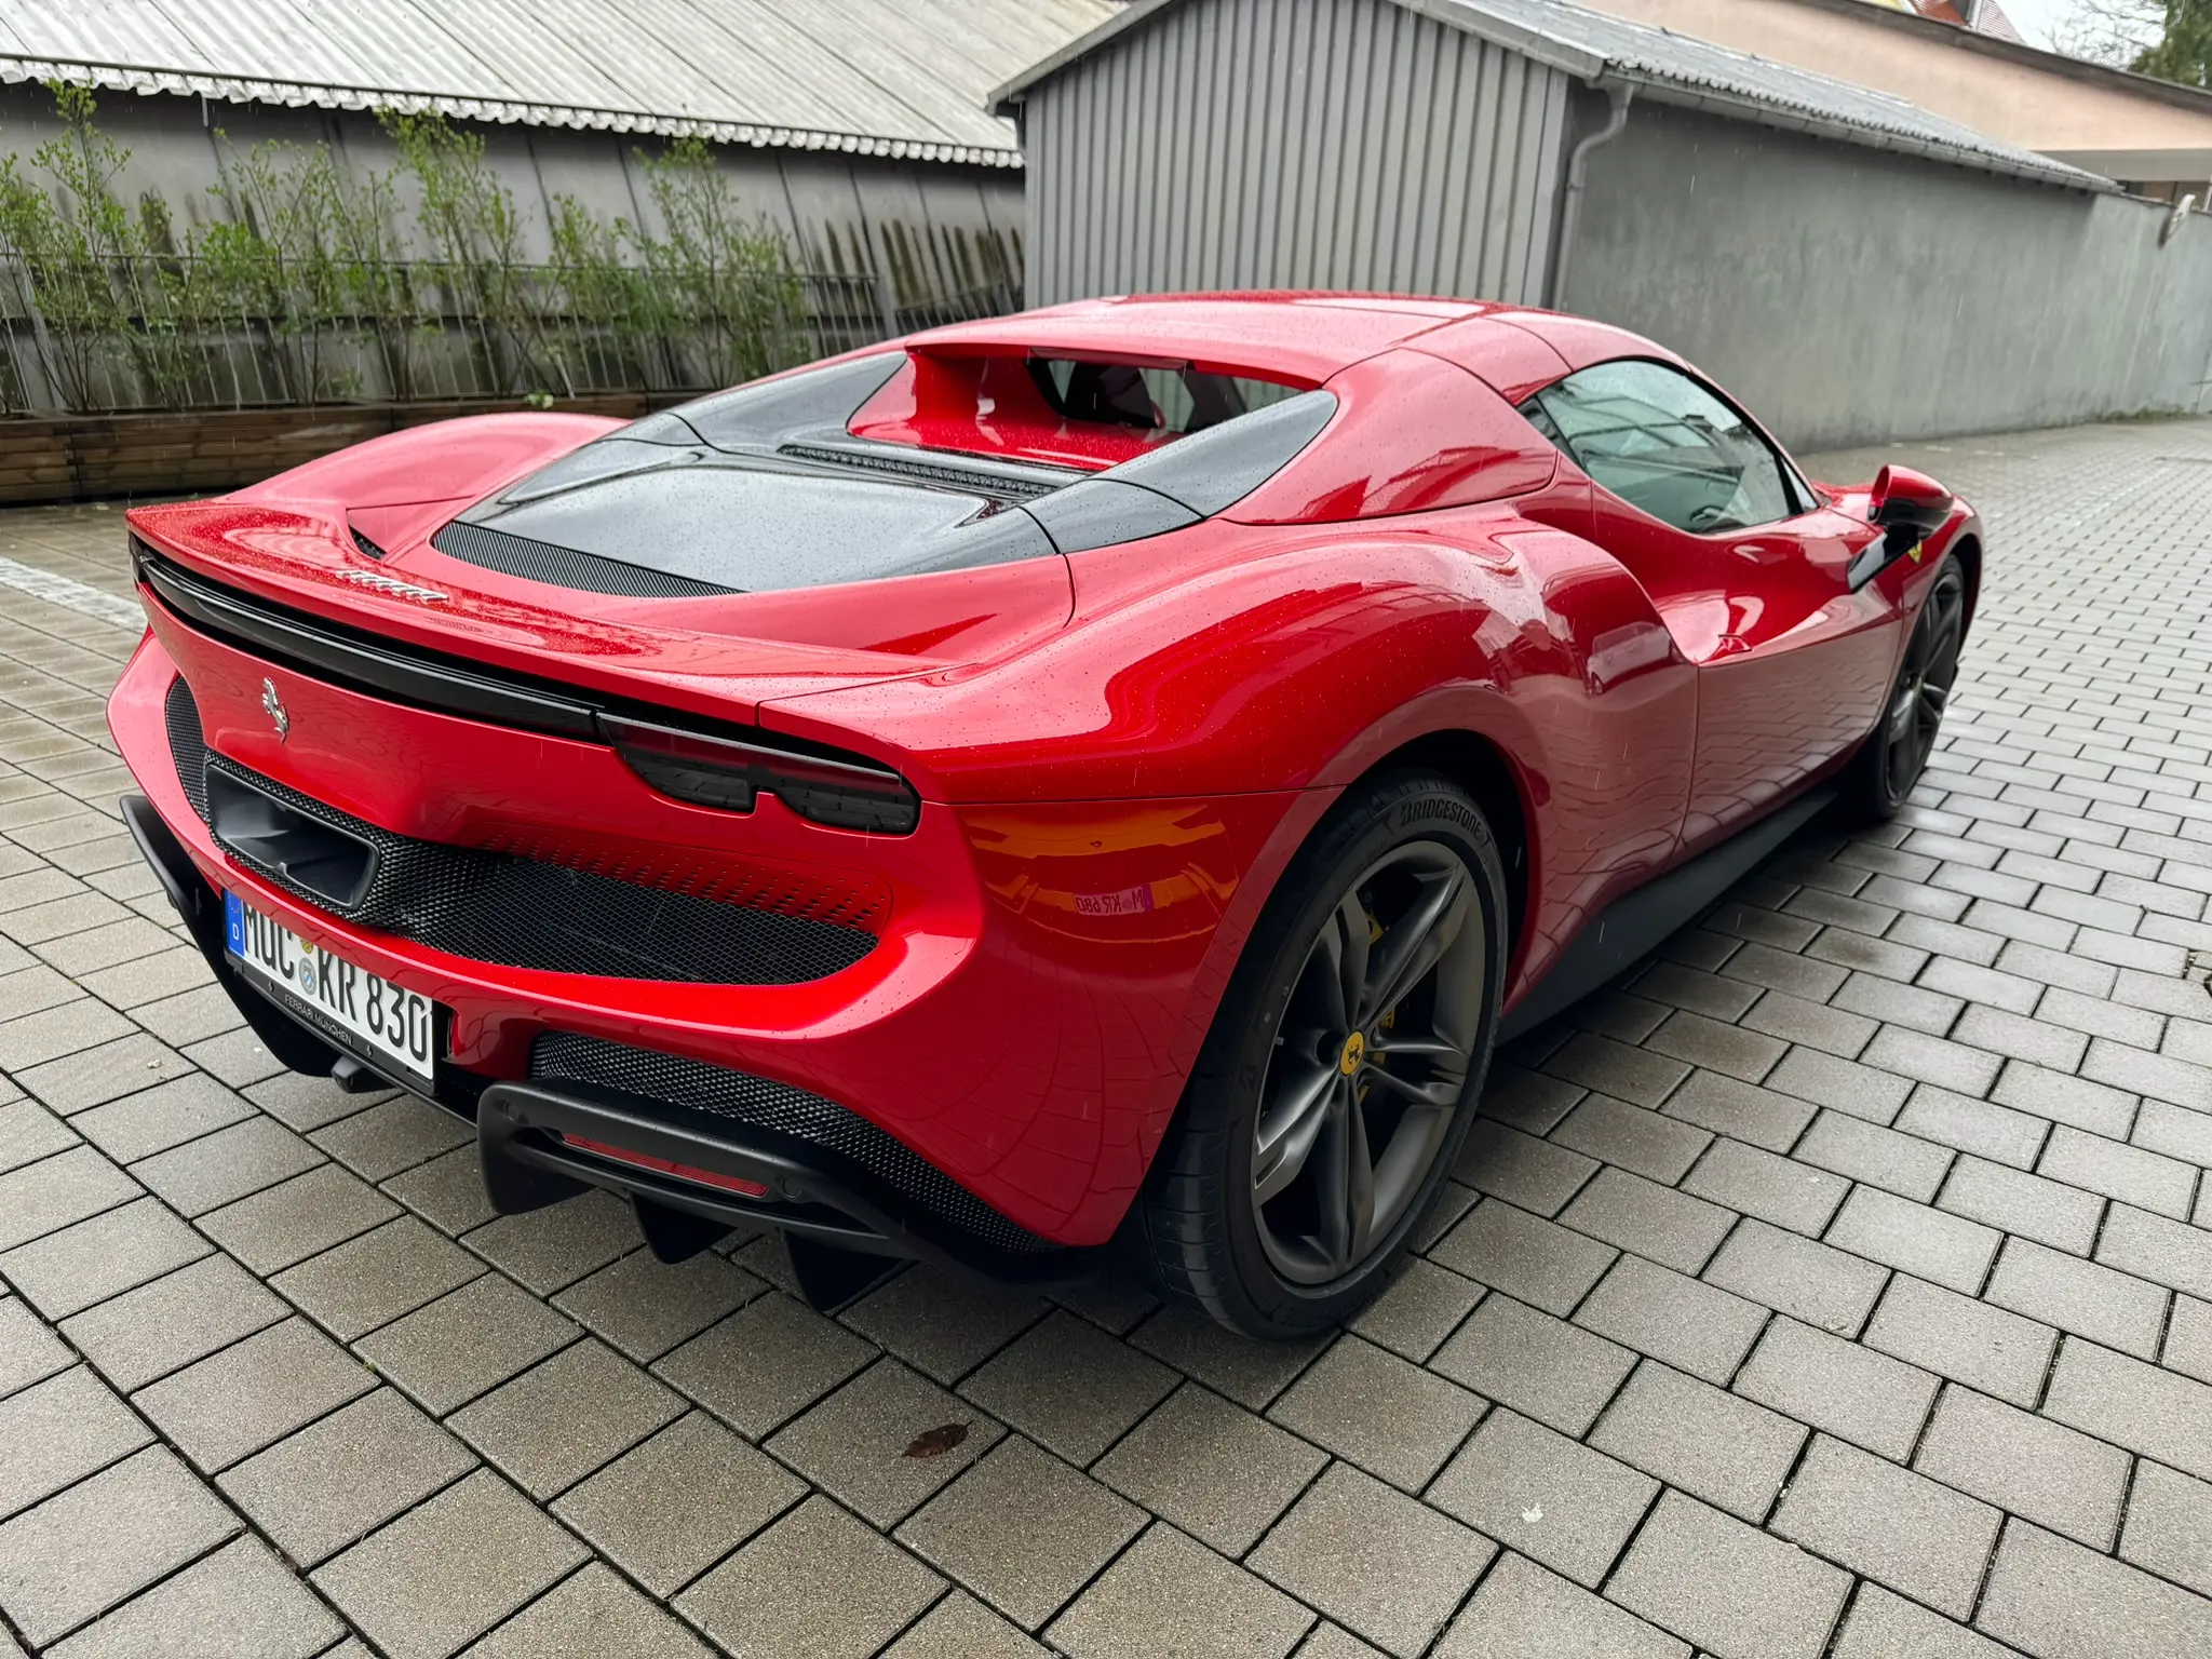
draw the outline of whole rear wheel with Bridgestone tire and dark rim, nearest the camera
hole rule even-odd
[[[1261,911],[1139,1197],[1170,1294],[1294,1338],[1383,1287],[1467,1139],[1504,945],[1504,865],[1467,792],[1354,785]]]

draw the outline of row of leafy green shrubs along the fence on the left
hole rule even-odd
[[[814,354],[781,230],[741,212],[701,139],[637,150],[648,232],[555,197],[551,259],[478,133],[385,111],[389,173],[325,144],[217,133],[215,221],[117,195],[131,153],[82,86],[62,133],[0,159],[0,307],[69,409],[372,396],[575,396],[732,385]]]

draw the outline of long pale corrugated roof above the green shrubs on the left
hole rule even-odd
[[[993,84],[1106,0],[35,0],[0,82],[1020,166]]]

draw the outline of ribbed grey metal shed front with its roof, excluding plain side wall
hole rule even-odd
[[[993,95],[1029,296],[1367,288],[1546,303],[1595,86],[2075,190],[1885,93],[1553,0],[1141,0]],[[1621,102],[1621,93],[1613,93]]]

